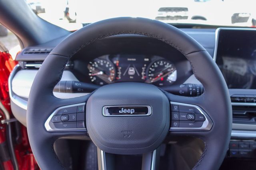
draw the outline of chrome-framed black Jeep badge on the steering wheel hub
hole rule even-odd
[[[151,106],[104,106],[104,116],[149,116]]]

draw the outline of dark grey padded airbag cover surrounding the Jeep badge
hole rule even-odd
[[[127,106],[151,106],[152,114],[104,116],[104,106],[126,106],[126,111]],[[88,133],[94,144],[105,152],[150,152],[163,142],[169,126],[170,103],[164,93],[151,84],[124,82],[102,86],[86,103]]]

